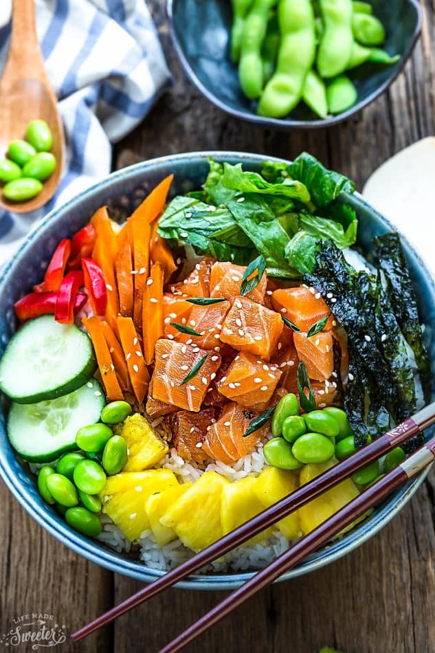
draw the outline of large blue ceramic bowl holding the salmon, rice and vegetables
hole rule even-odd
[[[259,155],[232,152],[190,153],[161,157],[113,173],[96,186],[82,192],[62,208],[49,214],[39,223],[0,278],[0,306],[2,309],[0,355],[16,329],[14,302],[28,292],[34,283],[41,280],[47,261],[61,239],[71,236],[82,228],[93,212],[104,204],[109,206],[112,215],[114,214],[120,219],[127,217],[143,197],[170,173],[175,174],[172,192],[185,193],[198,188],[207,175],[207,157],[210,156],[221,162],[227,161],[232,164],[241,162],[249,170],[258,170],[265,159]],[[346,201],[357,212],[359,245],[365,250],[370,248],[373,236],[392,230],[392,225],[370,208],[358,195],[348,196]],[[432,361],[435,361],[435,280],[411,245],[405,239],[403,241],[415,281],[421,316],[427,325],[425,329],[427,346],[430,349]],[[161,572],[149,569],[127,556],[115,553],[96,540],[82,537],[76,531],[71,530],[65,521],[41,499],[34,476],[31,476],[25,466],[21,465],[10,447],[5,430],[5,409],[6,406],[3,402],[3,406],[0,407],[0,472],[12,494],[27,512],[60,542],[96,564],[145,582],[153,581],[161,575]],[[282,579],[320,568],[371,538],[408,502],[421,485],[424,476],[422,474],[412,483],[399,489],[357,528],[347,533],[341,540],[317,551],[309,560],[285,574]],[[197,575],[188,578],[180,586],[208,590],[230,589],[245,582],[250,576],[249,573]]]

